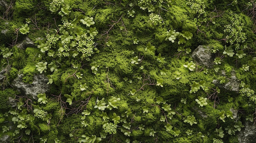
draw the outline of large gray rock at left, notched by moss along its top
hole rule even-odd
[[[37,95],[49,91],[48,78],[45,75],[35,75],[32,84],[25,84],[22,75],[13,80],[12,85],[29,98],[38,99]]]

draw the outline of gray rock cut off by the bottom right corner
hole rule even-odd
[[[245,128],[238,133],[239,143],[255,143],[256,142],[256,125],[252,122],[245,122]]]

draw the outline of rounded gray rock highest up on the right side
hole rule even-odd
[[[198,64],[211,67],[213,59],[211,58],[211,49],[206,46],[198,46],[192,53],[192,57],[198,62]]]

